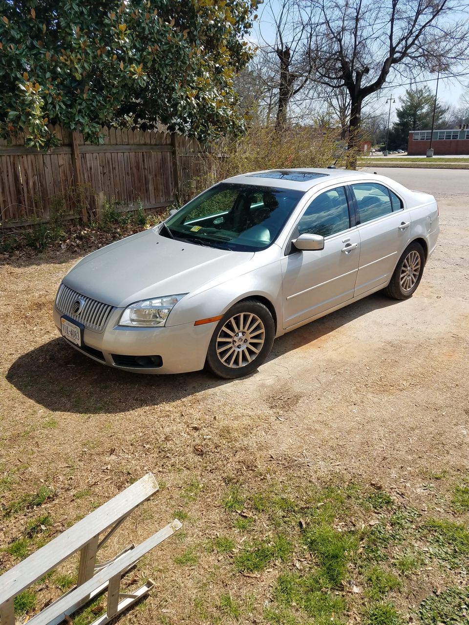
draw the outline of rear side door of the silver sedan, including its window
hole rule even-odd
[[[410,214],[395,192],[381,183],[351,184],[360,235],[360,264],[355,294],[389,282],[409,241]]]

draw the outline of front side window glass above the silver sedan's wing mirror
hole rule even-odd
[[[330,189],[313,199],[298,222],[300,234],[330,236],[348,228],[350,217],[343,187]]]

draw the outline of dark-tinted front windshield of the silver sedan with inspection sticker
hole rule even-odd
[[[233,251],[258,251],[275,241],[301,191],[221,183],[183,206],[160,234]]]

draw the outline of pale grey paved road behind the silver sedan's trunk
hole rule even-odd
[[[469,195],[469,171],[467,169],[403,169],[393,167],[363,168],[388,176],[398,183],[425,191],[435,197]]]

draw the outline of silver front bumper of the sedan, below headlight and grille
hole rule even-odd
[[[84,329],[83,347],[64,339],[79,352],[115,369],[135,373],[186,373],[203,369],[215,322],[194,326],[122,327],[118,320],[122,313],[116,308],[102,332]],[[54,306],[54,322],[61,332],[61,312]],[[126,358],[118,358],[124,356]],[[124,366],[132,356],[161,356],[161,366]],[[117,361],[117,363],[116,363]],[[120,364],[119,364],[120,363]]]

